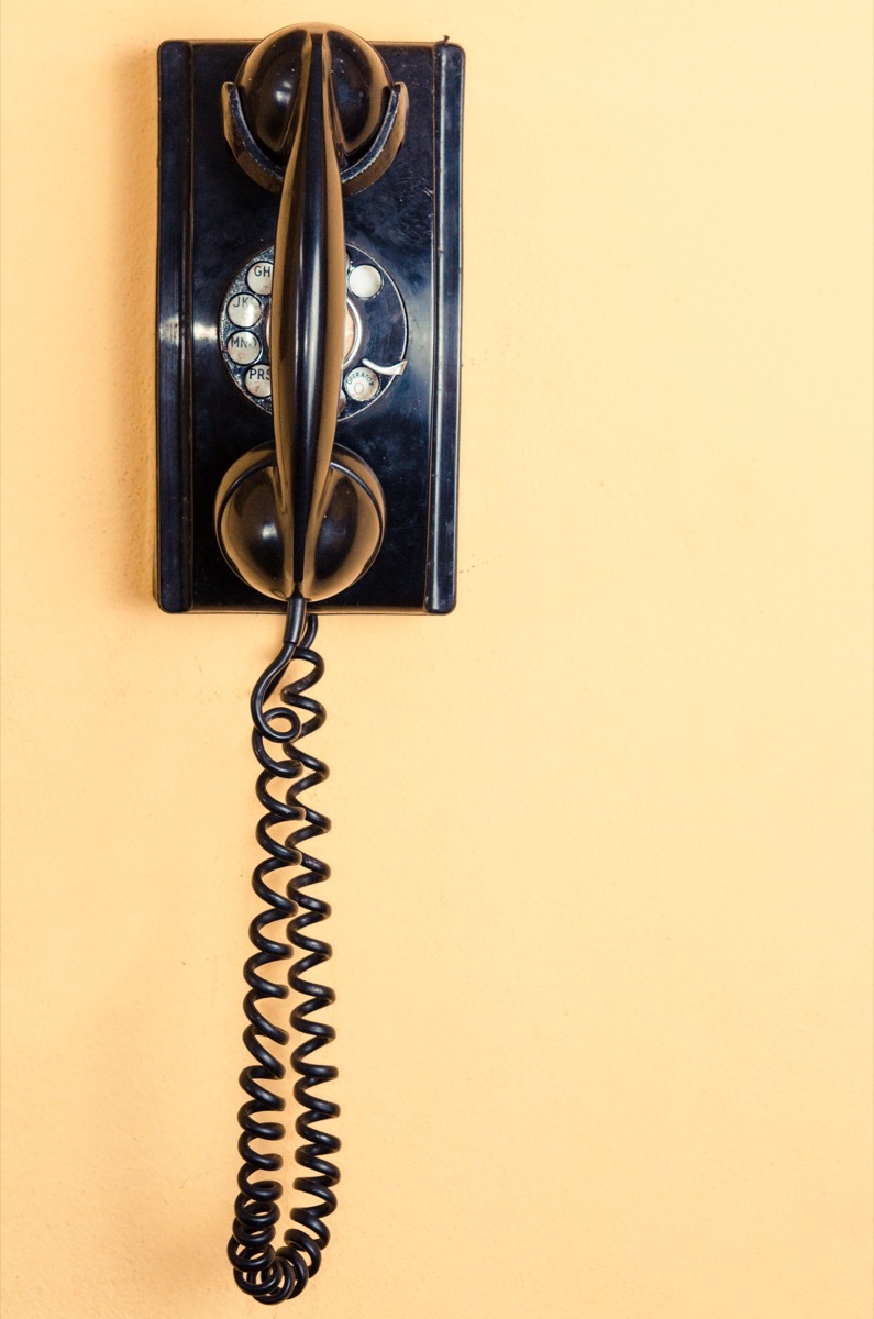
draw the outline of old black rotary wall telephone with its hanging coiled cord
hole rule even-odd
[[[335,1076],[314,1060],[334,1035],[313,979],[330,947],[312,926],[330,909],[312,888],[329,871],[305,849],[329,820],[301,801],[326,774],[302,745],[325,719],[317,615],[454,604],[463,53],[306,24],[158,58],[156,595],[170,612],[285,613],[251,706],[267,855],[228,1246],[239,1286],[272,1304],[318,1269],[338,1179],[321,1126],[338,1109],[313,1092]],[[288,995],[265,971],[294,954],[306,1203],[276,1248],[284,1101],[269,1086],[288,1033],[260,1009]]]

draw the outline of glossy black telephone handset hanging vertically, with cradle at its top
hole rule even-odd
[[[224,557],[255,590],[323,600],[379,551],[376,475],[334,447],[346,322],[342,194],[395,158],[407,94],[350,32],[308,24],[268,37],[223,88],[226,136],[257,182],[281,179],[271,306],[273,445],[226,474],[215,501]]]

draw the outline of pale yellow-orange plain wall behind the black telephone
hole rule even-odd
[[[277,627],[151,599],[154,47],[467,50],[459,605],[322,628],[308,1319],[867,1319],[870,16],[8,0],[8,1319],[231,1319]],[[18,204],[20,203],[20,204]]]

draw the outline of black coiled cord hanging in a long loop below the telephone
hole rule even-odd
[[[323,706],[308,695],[325,670],[321,657],[312,649],[316,629],[316,615],[308,616],[305,601],[294,596],[289,601],[283,649],[252,691],[252,748],[263,766],[257,778],[257,799],[265,810],[256,835],[268,853],[252,873],[252,888],[267,906],[250,926],[255,951],[244,972],[250,987],[244,1010],[250,1024],[243,1039],[255,1062],[240,1074],[240,1084],[250,1097],[239,1112],[243,1167],[238,1178],[236,1217],[228,1256],[238,1286],[263,1304],[296,1297],[318,1270],[330,1237],[323,1220],[337,1207],[331,1187],[339,1179],[335,1165],[330,1162],[339,1141],[314,1125],[337,1117],[339,1107],[312,1093],[313,1087],[337,1076],[335,1067],[312,1060],[316,1050],[334,1038],[333,1026],[313,1020],[314,1013],[334,1001],[334,993],[308,979],[331,955],[330,944],[309,933],[310,926],[330,915],[327,902],[309,892],[312,885],[330,876],[330,869],[302,849],[310,839],[327,832],[330,820],[300,801],[302,793],[327,777],[327,766],[300,745],[325,723]],[[309,665],[308,671],[280,689],[281,706],[268,708],[267,703],[285,670],[297,660]],[[277,751],[269,751],[268,744]],[[289,785],[283,797],[275,793],[277,780]],[[297,828],[279,842],[272,830],[288,824]],[[292,874],[285,890],[280,892],[272,886],[279,877],[275,872],[288,871]],[[268,935],[268,927],[277,921],[286,922],[288,942]],[[288,1043],[289,1033],[268,1021],[259,1004],[264,998],[288,996],[288,985],[264,979],[263,971],[292,956],[292,948],[298,956],[289,968],[288,985],[301,1000],[290,1014],[290,1024],[305,1037],[292,1054],[292,1067],[298,1075],[293,1093],[301,1109],[294,1130],[304,1142],[294,1157],[308,1170],[306,1177],[294,1179],[294,1190],[310,1196],[314,1203],[292,1210],[296,1225],[285,1232],[285,1244],[277,1249],[273,1239],[283,1187],[263,1174],[277,1173],[283,1158],[279,1153],[257,1149],[253,1142],[280,1141],[285,1136],[283,1122],[269,1116],[265,1119],[265,1115],[280,1113],[285,1108],[285,1100],[268,1089],[265,1083],[279,1082],[285,1075],[284,1064],[273,1057],[268,1043],[281,1047]]]

